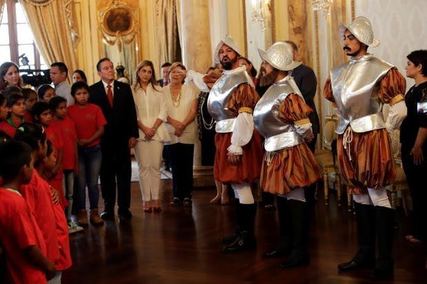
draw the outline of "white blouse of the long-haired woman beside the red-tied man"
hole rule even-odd
[[[154,89],[152,84],[148,84],[147,91],[144,91],[143,88],[138,88],[136,91],[132,89],[136,109],[136,118],[146,127],[152,127],[157,119],[165,122],[167,118],[165,94],[163,94],[161,87],[158,87],[157,89],[158,91]],[[139,129],[138,141],[145,140],[144,132]],[[170,140],[165,123],[160,124],[152,140],[157,140],[160,142],[167,142]]]

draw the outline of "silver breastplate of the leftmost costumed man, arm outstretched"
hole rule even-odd
[[[216,132],[227,133],[233,131],[236,116],[227,108],[231,94],[240,84],[248,83],[253,87],[251,78],[244,66],[225,71],[213,85],[207,99],[207,110],[216,120]]]

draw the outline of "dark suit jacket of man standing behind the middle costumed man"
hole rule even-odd
[[[317,115],[316,106],[314,104],[317,78],[313,72],[313,69],[306,65],[300,65],[293,69],[291,76],[300,89],[306,104],[309,105],[311,109],[313,109],[313,113],[309,115],[309,119],[311,124],[313,124],[313,134],[316,135],[320,131],[319,116]]]

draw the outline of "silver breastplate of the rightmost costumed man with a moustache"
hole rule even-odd
[[[393,65],[367,54],[331,70],[333,98],[340,115],[338,134],[344,133],[348,124],[355,132],[385,127],[379,85],[391,68]]]

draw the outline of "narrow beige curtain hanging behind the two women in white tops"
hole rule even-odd
[[[176,0],[156,0],[156,59],[163,64],[180,58],[178,28],[176,23]]]

